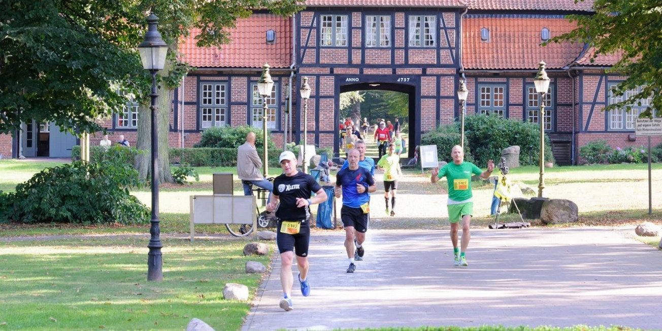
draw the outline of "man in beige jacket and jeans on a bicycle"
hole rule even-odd
[[[244,181],[250,181],[253,185],[269,190],[269,199],[271,202],[271,192],[273,192],[273,183],[267,181],[260,173],[262,160],[258,156],[258,150],[255,149],[255,133],[248,132],[246,142],[239,146],[237,150],[237,175],[242,179],[244,185],[244,195],[250,195],[250,186],[244,184]]]

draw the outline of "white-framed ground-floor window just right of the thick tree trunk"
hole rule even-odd
[[[228,124],[228,85],[226,83],[200,83],[200,128]]]

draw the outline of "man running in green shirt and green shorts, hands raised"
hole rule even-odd
[[[487,162],[487,170],[481,169],[471,162],[464,162],[464,150],[461,146],[453,146],[451,151],[453,163],[439,169],[432,169],[430,181],[436,183],[442,177],[448,179],[448,220],[451,222],[451,242],[453,243],[453,256],[455,265],[469,265],[465,258],[465,252],[469,246],[469,223],[473,214],[473,195],[471,193],[471,175],[480,175],[487,179],[495,169],[492,160]],[[462,220],[462,242],[461,250],[457,248],[458,222]],[[458,255],[459,253],[459,255]]]

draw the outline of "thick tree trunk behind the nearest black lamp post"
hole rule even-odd
[[[167,76],[171,63],[166,62],[164,70],[159,71],[160,75]],[[170,172],[170,156],[168,153],[168,134],[170,131],[170,95],[173,91],[165,84],[157,81],[157,92],[159,96],[156,98],[156,121],[158,124],[158,149],[159,149],[159,182],[160,183],[173,183],[172,173]],[[150,104],[140,105],[138,109],[138,137],[136,148],[143,150],[142,155],[136,156],[134,166],[138,169],[140,177],[150,179],[152,174],[152,111]]]

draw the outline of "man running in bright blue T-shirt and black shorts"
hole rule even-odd
[[[359,167],[359,151],[348,152],[348,167],[340,169],[336,174],[336,189],[334,195],[340,197],[342,188],[342,209],[340,219],[345,226],[345,249],[350,266],[348,273],[354,273],[356,265],[354,257],[363,257],[363,242],[368,229],[368,213],[370,193],[377,191],[373,175],[365,168]],[[361,259],[362,260],[362,259]]]

